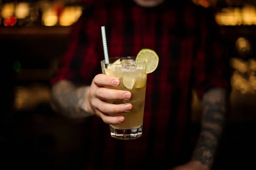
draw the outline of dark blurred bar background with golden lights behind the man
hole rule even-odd
[[[193,1],[205,6],[204,0]],[[231,109],[214,167],[255,167],[256,0],[209,1],[232,72]],[[77,159],[73,155],[82,145],[86,122],[70,121],[52,111],[49,79],[65,52],[73,23],[90,4],[90,0],[0,0],[4,92],[0,162],[8,165],[6,169],[66,169],[70,159]],[[196,134],[201,104],[193,96],[191,131]],[[195,139],[196,135],[192,142]]]

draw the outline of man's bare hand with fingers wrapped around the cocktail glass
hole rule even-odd
[[[130,112],[131,104],[109,104],[106,101],[123,101],[131,98],[131,92],[105,87],[117,87],[120,80],[108,75],[99,74],[93,79],[93,82],[87,92],[85,100],[85,111],[94,112],[107,124],[120,124],[125,121],[123,116],[110,116],[111,114],[120,114]]]

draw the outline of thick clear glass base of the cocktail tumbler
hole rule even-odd
[[[116,129],[112,125],[110,125],[110,134],[113,138],[116,139],[136,139],[142,135],[142,125],[134,129]]]

